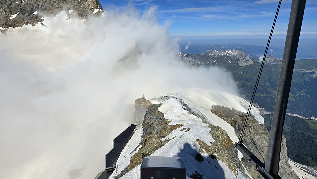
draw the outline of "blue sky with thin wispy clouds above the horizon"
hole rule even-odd
[[[253,39],[256,43],[256,39],[268,38],[278,0],[100,0],[100,3],[104,9],[122,10],[132,3],[140,14],[157,6],[159,23],[172,22],[171,36],[183,40]],[[282,0],[273,36],[276,43],[285,39],[290,6],[291,0]],[[302,39],[317,40],[317,0],[307,0],[301,32]]]

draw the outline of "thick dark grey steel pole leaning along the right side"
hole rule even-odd
[[[265,170],[278,177],[283,125],[291,87],[296,52],[306,0],[293,0],[283,52],[280,78],[277,86],[274,113],[268,142]]]

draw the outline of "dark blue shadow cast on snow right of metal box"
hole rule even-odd
[[[197,148],[200,148],[200,146],[198,145]],[[212,154],[201,154],[199,151],[192,148],[191,144],[185,143],[184,148],[180,150],[177,156],[183,158],[186,166],[186,175],[191,178],[225,179],[224,171],[220,166],[217,157]]]

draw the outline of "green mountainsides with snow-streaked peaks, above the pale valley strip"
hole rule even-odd
[[[177,52],[179,60],[189,65],[219,66],[230,70],[238,83],[240,93],[249,99],[252,95],[256,76],[262,58],[253,58],[238,50],[213,50],[202,54]],[[260,62],[259,62],[260,61]],[[268,55],[257,90],[255,102],[259,107],[272,113],[280,74],[281,59]],[[317,117],[317,59],[296,60],[288,113],[306,118]]]

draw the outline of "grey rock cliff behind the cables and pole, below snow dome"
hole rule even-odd
[[[210,111],[228,122],[234,127],[237,137],[240,136],[243,127],[242,121],[245,120],[246,113],[219,105],[212,106]],[[263,163],[266,159],[268,140],[269,133],[265,125],[259,124],[256,119],[250,115],[243,137],[243,144]],[[288,163],[285,141],[285,137],[283,137],[279,176],[282,179],[298,179],[299,177]],[[262,178],[262,175],[244,157],[242,158],[242,163],[248,170],[250,176],[253,178]]]

